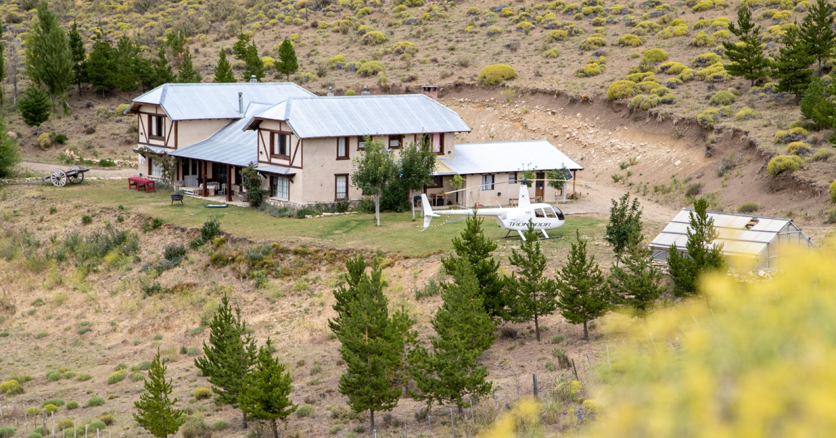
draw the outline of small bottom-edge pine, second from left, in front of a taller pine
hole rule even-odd
[[[238,405],[244,414],[258,420],[270,420],[273,438],[278,438],[276,420],[286,421],[293,414],[296,405],[290,400],[293,385],[287,368],[273,357],[273,341],[258,349],[258,356],[252,373],[244,377]]]

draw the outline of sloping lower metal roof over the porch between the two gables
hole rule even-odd
[[[272,103],[250,103],[244,113],[256,114],[270,108],[271,105]],[[246,123],[246,117],[229,122],[211,137],[177,149],[170,155],[181,159],[202,159],[233,166],[258,163],[257,133],[244,131],[243,126]]]

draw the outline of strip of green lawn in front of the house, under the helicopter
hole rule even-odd
[[[461,234],[464,222],[447,223],[421,231],[421,219],[412,221],[411,212],[381,214],[380,228],[375,227],[374,214],[351,214],[328,216],[315,219],[274,218],[256,209],[229,206],[226,209],[206,209],[209,204],[200,199],[186,196],[184,206],[171,205],[170,193],[161,191],[145,194],[128,189],[122,181],[85,181],[83,184],[68,184],[63,188],[51,185],[37,186],[50,204],[79,204],[89,207],[115,208],[122,205],[127,211],[160,218],[166,223],[187,227],[200,227],[206,219],[217,215],[222,229],[235,236],[253,240],[271,240],[285,244],[314,244],[336,249],[380,249],[385,252],[422,254],[427,251],[451,249],[451,239]],[[446,217],[433,219],[441,224]],[[460,219],[460,218],[451,218]],[[491,219],[485,220],[488,236],[499,239],[506,231],[497,227]],[[552,230],[552,237],[563,234],[574,237],[575,229],[594,239],[604,233],[604,224],[599,219],[569,216],[563,228]],[[502,239],[510,243],[517,239]],[[568,239],[545,241],[545,248],[568,248]]]

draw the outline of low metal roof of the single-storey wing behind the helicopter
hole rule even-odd
[[[456,143],[456,156],[437,159],[436,163],[443,163],[457,174],[496,174],[523,169],[552,170],[561,169],[563,166],[569,170],[584,169],[547,140]]]

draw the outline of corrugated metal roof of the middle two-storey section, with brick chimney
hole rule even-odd
[[[294,97],[257,114],[247,129],[262,120],[286,121],[300,138],[471,130],[456,112],[423,94]]]

